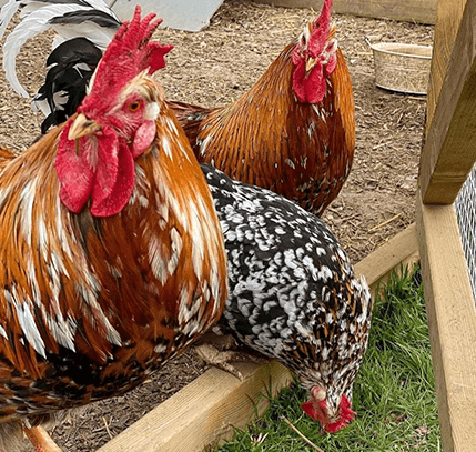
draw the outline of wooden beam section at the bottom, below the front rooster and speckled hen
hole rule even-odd
[[[194,452],[230,439],[233,426],[243,429],[262,414],[267,399],[292,381],[277,362],[236,363],[244,381],[210,369],[175,395],[115,436],[98,452]]]

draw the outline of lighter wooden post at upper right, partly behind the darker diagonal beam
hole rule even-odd
[[[439,0],[436,8],[436,27],[433,47],[428,93],[426,96],[426,132],[433,121],[443,81],[448,70],[449,57],[467,0]]]

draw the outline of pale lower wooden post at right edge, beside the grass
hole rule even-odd
[[[445,452],[476,450],[476,308],[453,205],[417,200],[417,230]]]

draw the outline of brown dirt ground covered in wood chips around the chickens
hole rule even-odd
[[[159,73],[169,99],[203,106],[234,101],[298,36],[310,9],[284,9],[227,0],[200,33],[160,30],[173,43]],[[425,97],[375,87],[373,41],[431,44],[433,27],[334,14],[337,39],[352,76],[356,103],[356,150],[352,173],[324,220],[357,262],[405,229],[415,218],[418,155]],[[19,79],[34,93],[44,77],[51,33],[28,42],[17,66]],[[41,114],[16,94],[0,71],[0,143],[18,151],[39,133]],[[64,451],[93,451],[199,375],[203,369],[188,353],[126,396],[88,406],[53,438]]]

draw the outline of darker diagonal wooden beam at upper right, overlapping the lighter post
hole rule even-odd
[[[419,182],[425,204],[452,204],[476,160],[474,42],[476,0],[468,0],[422,152]]]

